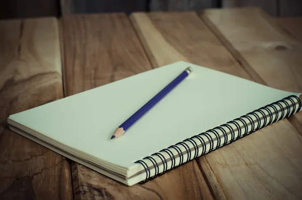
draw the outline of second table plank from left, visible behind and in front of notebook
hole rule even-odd
[[[66,96],[153,68],[125,14],[64,16],[62,23]],[[196,162],[131,187],[73,162],[72,180],[75,199],[212,199]]]

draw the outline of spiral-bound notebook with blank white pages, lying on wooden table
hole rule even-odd
[[[186,80],[124,136],[110,140],[122,121],[188,66],[193,72]],[[12,114],[8,124],[71,160],[133,185],[300,111],[299,95],[179,61]]]

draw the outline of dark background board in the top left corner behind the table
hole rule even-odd
[[[59,5],[53,0],[2,1],[0,19],[58,16]]]

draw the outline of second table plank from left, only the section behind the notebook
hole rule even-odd
[[[65,96],[152,70],[125,14],[63,16],[62,26]]]

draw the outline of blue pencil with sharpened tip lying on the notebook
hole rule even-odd
[[[116,128],[116,130],[114,131],[114,134],[111,137],[111,140],[124,135],[124,133],[138,119],[140,119],[148,110],[150,110],[153,106],[155,106],[173,88],[175,88],[179,83],[181,83],[192,71],[193,71],[193,69],[188,67],[178,77],[176,77],[171,83],[169,83],[164,89],[162,89],[157,95],[155,95],[146,104],[144,104],[139,110],[137,110],[132,116],[130,116],[126,121],[124,121],[118,128]]]

